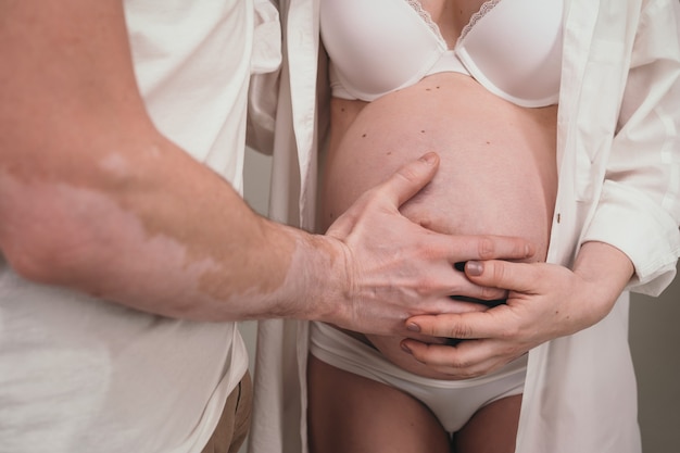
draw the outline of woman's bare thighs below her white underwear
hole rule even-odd
[[[420,401],[330,366],[307,364],[310,450],[325,453],[514,451],[521,395],[481,407],[453,439]]]

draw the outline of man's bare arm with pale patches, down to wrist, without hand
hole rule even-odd
[[[165,315],[313,315],[289,276],[308,235],[159,134],[119,0],[0,14],[0,247],[17,272]],[[323,277],[325,259],[301,262]]]

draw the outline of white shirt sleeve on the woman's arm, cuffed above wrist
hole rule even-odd
[[[632,261],[630,290],[658,295],[680,255],[680,3],[642,11],[603,190],[583,241]]]

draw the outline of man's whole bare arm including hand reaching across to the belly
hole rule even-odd
[[[327,236],[257,216],[151,123],[117,0],[2,0],[0,54],[0,248],[28,279],[167,316],[391,332],[407,315],[456,310],[449,293],[478,295],[452,263],[531,252],[401,216],[435,155]]]

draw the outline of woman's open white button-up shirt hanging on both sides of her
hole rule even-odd
[[[325,124],[315,103],[318,4],[278,3],[287,23],[281,91],[253,103],[276,118],[270,212],[311,228],[315,124]],[[581,243],[607,242],[635,266],[629,289],[658,294],[680,255],[680,7],[567,0],[564,17],[549,261],[570,266]],[[530,351],[517,452],[640,453],[628,300],[624,293],[597,325]],[[306,452],[307,325],[261,322],[257,342],[250,453]]]

